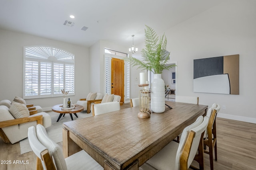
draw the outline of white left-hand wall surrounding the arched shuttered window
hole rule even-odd
[[[86,74],[89,72],[88,48],[0,29],[0,100],[12,101],[15,96],[22,97],[23,47],[30,45],[48,45],[73,53],[76,62],[76,95],[70,96],[70,100],[76,102],[79,98],[86,98],[89,92],[89,74]],[[26,103],[49,110],[53,105],[61,104],[62,98],[28,99]]]

